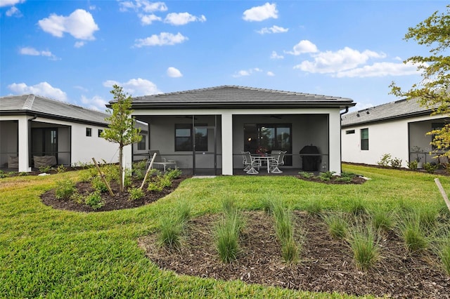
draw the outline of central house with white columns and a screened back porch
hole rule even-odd
[[[242,171],[242,151],[285,150],[284,168],[341,172],[340,113],[349,98],[217,86],[133,98],[133,116],[148,124],[151,150],[193,174],[233,175]],[[300,151],[316,148],[316,153]],[[127,163],[135,158],[127,157]]]

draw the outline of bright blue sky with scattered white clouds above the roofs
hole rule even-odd
[[[133,96],[221,85],[397,100],[420,81],[405,41],[448,1],[0,0],[0,95],[105,110]]]

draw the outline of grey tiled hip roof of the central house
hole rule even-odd
[[[340,107],[343,109],[354,105],[356,103],[349,98],[229,85],[133,98],[133,109],[255,107]]]

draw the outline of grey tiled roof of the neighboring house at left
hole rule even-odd
[[[8,95],[0,98],[0,115],[27,114],[82,124],[108,125],[109,114],[44,98],[39,95]]]

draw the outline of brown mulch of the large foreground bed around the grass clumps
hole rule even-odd
[[[244,215],[247,225],[240,240],[241,251],[228,265],[219,260],[212,237],[219,215],[191,220],[179,249],[158,246],[155,234],[139,239],[139,245],[162,269],[179,274],[314,292],[450,298],[450,277],[439,268],[437,257],[432,253],[406,254],[394,233],[380,241],[380,260],[375,267],[363,271],[356,267],[349,245],[332,239],[323,220],[296,212],[297,223],[306,236],[300,263],[290,265],[281,259],[271,217],[262,211]]]

